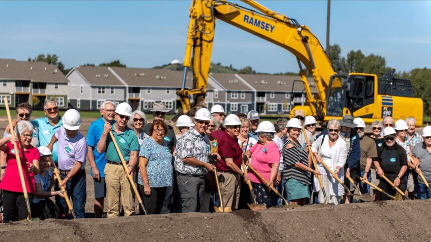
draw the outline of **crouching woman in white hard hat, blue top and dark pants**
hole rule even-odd
[[[54,184],[54,171],[51,167],[52,158],[51,150],[46,146],[38,147],[39,173],[35,175],[36,194],[32,201],[32,217],[39,217],[44,220],[47,218],[59,218],[58,206],[49,199],[52,196],[63,196],[63,191],[51,191]]]

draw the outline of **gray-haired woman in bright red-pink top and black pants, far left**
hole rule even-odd
[[[34,175],[39,173],[39,150],[30,144],[33,138],[33,125],[29,121],[20,121],[15,130],[17,136],[0,139],[0,150],[7,154],[6,173],[2,182],[0,182],[0,189],[3,189],[3,220],[5,222],[23,220],[28,216],[15,156],[17,151],[11,142],[12,139],[18,145],[24,181],[30,202],[33,200],[33,195],[35,194]]]

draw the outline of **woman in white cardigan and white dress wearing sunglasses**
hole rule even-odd
[[[328,121],[328,134],[321,135],[314,141],[312,151],[317,160],[325,162],[334,171],[334,175],[337,175],[344,182],[344,165],[346,164],[348,149],[346,142],[338,137],[339,129],[340,123],[335,119],[330,119]],[[344,187],[331,177],[331,174],[321,164],[317,166],[325,192],[329,196],[327,197],[328,202],[340,204]],[[316,177],[314,179],[314,191],[319,191],[319,202],[324,202],[325,198],[323,192],[320,192],[319,182]]]

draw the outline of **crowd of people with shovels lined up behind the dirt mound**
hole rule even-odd
[[[227,115],[221,105],[213,105],[197,110],[193,118],[180,116],[174,128],[165,122],[170,109],[163,103],[154,103],[154,120],[147,122],[128,103],[105,101],[85,137],[80,113],[69,109],[60,117],[55,101],[46,101],[46,116],[32,121],[31,105],[19,104],[16,111],[13,127],[8,125],[0,139],[0,212],[6,222],[28,216],[17,152],[32,216],[40,219],[70,217],[67,197],[74,215],[85,217],[87,160],[96,217],[104,216],[105,208],[108,218],[143,214],[136,196],[148,214],[212,212],[221,203],[243,209],[252,194],[266,207],[283,204],[272,186],[289,205],[361,202],[351,196],[355,188],[372,192],[376,200],[392,199],[395,187],[409,198],[431,197],[419,176],[431,183],[431,127],[418,134],[412,117],[375,120],[368,136],[363,119],[345,115],[329,120],[317,133],[316,119],[302,110],[295,110],[290,120],[271,123],[261,122],[254,110]],[[127,174],[133,176],[137,194]]]

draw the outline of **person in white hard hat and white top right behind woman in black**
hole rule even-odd
[[[408,140],[407,137],[407,130],[408,130],[408,126],[407,126],[407,122],[405,122],[405,120],[403,119],[398,119],[395,122],[394,125],[394,129],[396,132],[396,143],[401,146],[404,150],[405,153],[407,154],[407,165],[408,165],[408,169],[405,173],[405,175],[407,176],[407,190],[406,190],[406,195],[408,195],[408,197],[410,199],[413,199],[414,197],[414,181],[413,181],[413,171],[411,170],[410,167],[410,142]]]

